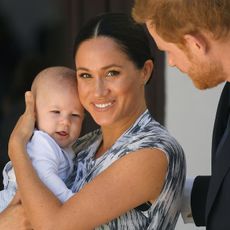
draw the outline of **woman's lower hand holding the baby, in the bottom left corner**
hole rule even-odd
[[[2,213],[0,213],[0,229],[4,230],[32,230],[25,216],[19,194]]]

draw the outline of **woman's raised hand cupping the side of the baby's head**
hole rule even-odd
[[[8,149],[11,157],[15,149],[25,148],[28,143],[35,124],[34,98],[30,91],[25,93],[26,109],[19,118],[13,132],[11,133]]]

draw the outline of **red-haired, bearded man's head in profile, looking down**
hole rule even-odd
[[[229,0],[136,0],[133,17],[146,23],[171,66],[200,89],[227,79],[218,46],[230,40]]]

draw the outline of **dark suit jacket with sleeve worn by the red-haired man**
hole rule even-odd
[[[212,140],[212,174],[195,178],[191,206],[197,226],[230,230],[230,82],[222,91]]]

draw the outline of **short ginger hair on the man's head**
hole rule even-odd
[[[202,31],[224,39],[230,31],[229,0],[136,0],[133,17],[149,22],[167,42],[183,43],[184,35]]]

